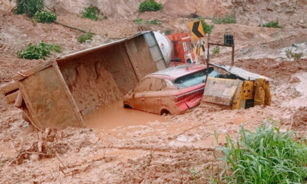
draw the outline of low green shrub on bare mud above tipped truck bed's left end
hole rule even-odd
[[[17,53],[18,57],[23,59],[45,59],[50,51],[61,52],[61,46],[46,44],[41,41],[37,45],[29,44],[25,49]]]

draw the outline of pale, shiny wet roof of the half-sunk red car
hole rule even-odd
[[[153,72],[146,77],[159,77],[165,79],[177,79],[178,77],[182,77],[184,75],[188,75],[193,72],[197,72],[199,70],[203,70],[207,68],[205,65],[200,64],[185,64],[174,66],[170,68],[165,68],[163,70],[159,70],[158,72]]]

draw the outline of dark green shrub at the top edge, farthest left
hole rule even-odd
[[[26,13],[28,17],[33,17],[43,8],[44,0],[17,0],[13,12],[17,15]]]

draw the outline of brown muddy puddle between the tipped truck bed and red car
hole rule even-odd
[[[89,128],[103,128],[110,130],[119,126],[146,125],[153,121],[165,121],[158,114],[151,114],[135,109],[123,108],[123,102],[119,101],[107,107],[102,107],[84,117]]]

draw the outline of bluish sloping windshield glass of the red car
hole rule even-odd
[[[183,77],[175,79],[174,83],[178,86],[178,89],[202,84],[206,80],[206,72],[207,69],[204,69],[199,72],[184,75]],[[214,70],[214,68],[209,68],[209,77],[218,77],[219,74],[220,73]]]

